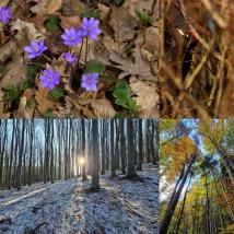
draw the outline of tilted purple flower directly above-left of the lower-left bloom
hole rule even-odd
[[[37,56],[40,56],[47,49],[44,43],[44,39],[42,39],[40,42],[33,40],[31,43],[31,46],[25,46],[24,51],[27,52],[27,57],[34,59]]]

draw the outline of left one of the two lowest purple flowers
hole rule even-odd
[[[48,86],[52,90],[59,84],[60,73],[52,70],[52,68],[46,69],[43,74],[40,74],[39,80],[43,82],[42,87]]]

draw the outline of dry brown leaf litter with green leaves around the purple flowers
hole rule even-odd
[[[5,5],[12,16],[0,21],[0,117],[159,117],[159,1],[1,0]],[[71,48],[61,35],[91,16],[102,34],[89,39],[87,52],[82,43],[72,47],[72,54],[82,52],[71,74],[62,57]],[[30,59],[24,47],[42,39],[44,56]],[[96,92],[81,86],[86,57],[103,68],[95,70]],[[39,79],[48,67],[60,73],[52,91]]]

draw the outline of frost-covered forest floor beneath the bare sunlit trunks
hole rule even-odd
[[[138,174],[142,180],[102,175],[98,192],[86,192],[91,182],[80,177],[0,191],[0,232],[156,233],[157,173],[148,167]]]

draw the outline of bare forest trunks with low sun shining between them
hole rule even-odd
[[[0,185],[21,189],[91,174],[98,189],[100,173],[121,169],[131,178],[142,163],[156,164],[157,139],[156,120],[1,119]]]

